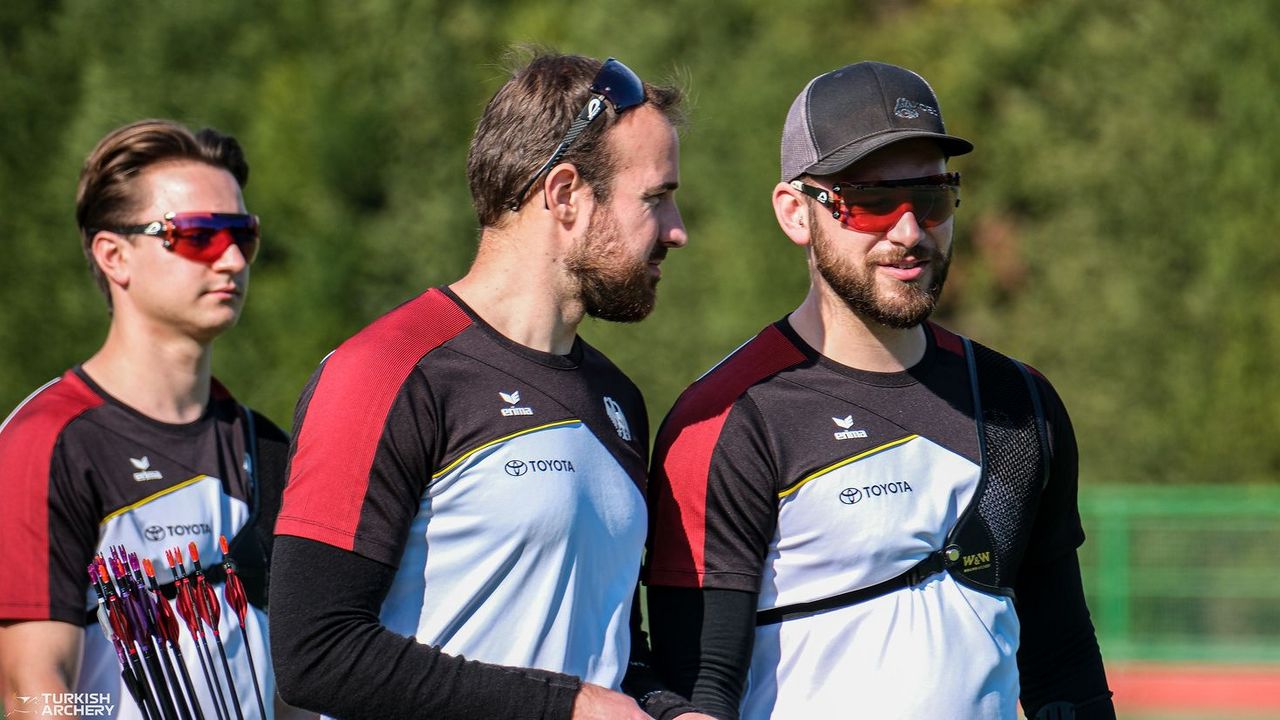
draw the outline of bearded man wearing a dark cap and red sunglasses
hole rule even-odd
[[[809,293],[685,391],[652,469],[654,651],[717,716],[1115,716],[1066,410],[928,322],[972,150],[893,65],[791,105],[773,208]]]

